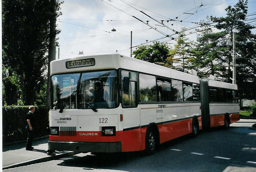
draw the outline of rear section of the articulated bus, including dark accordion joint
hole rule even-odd
[[[240,120],[237,85],[200,79],[203,128],[225,126]]]

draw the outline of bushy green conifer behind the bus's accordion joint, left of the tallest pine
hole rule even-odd
[[[195,70],[198,71],[198,76],[209,77],[210,75],[220,76],[220,71],[225,69],[224,66],[228,65],[225,60],[218,54],[219,50],[223,50],[220,46],[220,42],[223,42],[225,33],[214,33],[209,17],[206,21],[201,21],[201,27],[198,30],[197,43],[191,50],[193,58],[191,63]]]

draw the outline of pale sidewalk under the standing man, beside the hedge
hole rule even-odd
[[[74,155],[73,151],[55,151],[55,155],[47,155],[49,137],[33,141],[33,151],[26,151],[26,143],[3,146],[3,170],[26,166]]]

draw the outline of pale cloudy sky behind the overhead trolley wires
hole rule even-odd
[[[60,59],[77,57],[79,52],[83,52],[84,56],[115,53],[130,56],[131,31],[132,47],[153,44],[150,41],[159,38],[162,38],[157,40],[160,43],[166,41],[170,47],[174,47],[177,42],[170,41],[166,35],[178,38],[179,35],[174,35],[174,31],[180,32],[184,27],[193,28],[185,32],[186,35],[189,34],[185,38],[196,41],[194,27],[199,26],[201,20],[206,20],[206,16],[225,17],[225,9],[237,2],[238,0],[65,0],[61,4],[62,15],[56,22],[57,28],[61,30],[57,36],[59,47],[56,48],[56,59],[58,48]],[[247,19],[255,18],[256,0],[248,0],[247,6],[247,15],[252,15],[247,16]],[[163,27],[161,22],[168,28]],[[255,20],[246,22],[256,24]],[[113,28],[116,31],[112,31]],[[252,33],[256,33],[256,29]],[[136,50],[136,47],[132,50]]]

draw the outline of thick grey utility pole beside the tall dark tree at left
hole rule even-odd
[[[52,7],[52,18],[50,18],[50,42],[49,42],[49,51],[48,51],[48,81],[47,81],[47,108],[50,109],[51,105],[51,76],[50,76],[50,62],[56,58],[56,0],[50,0]]]

